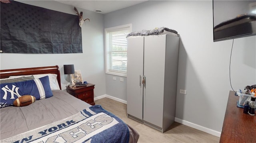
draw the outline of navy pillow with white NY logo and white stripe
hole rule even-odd
[[[23,95],[32,95],[36,100],[52,96],[49,76],[22,82],[0,84],[0,108],[12,106],[14,100]]]

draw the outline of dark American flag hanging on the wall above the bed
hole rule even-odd
[[[77,15],[21,2],[1,2],[2,53],[82,53]]]

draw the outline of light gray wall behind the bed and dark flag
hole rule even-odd
[[[26,4],[40,6],[50,10],[76,14],[73,6],[56,1],[20,1]],[[42,67],[58,65],[61,73],[62,89],[69,83],[69,76],[64,75],[63,65],[74,64],[80,69],[84,80],[95,84],[94,95],[101,96],[106,93],[105,63],[104,63],[104,27],[103,15],[77,8],[83,11],[84,18],[90,18],[82,25],[83,53],[74,54],[17,54],[1,53],[1,70],[26,67]]]

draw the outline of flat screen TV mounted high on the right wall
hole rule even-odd
[[[256,0],[213,0],[213,41],[256,35]]]

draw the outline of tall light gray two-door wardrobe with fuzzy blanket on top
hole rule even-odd
[[[162,133],[175,118],[179,37],[127,38],[127,116]]]

